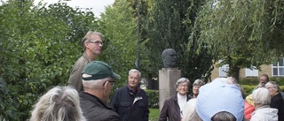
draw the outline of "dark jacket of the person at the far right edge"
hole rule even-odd
[[[272,96],[272,102],[270,103],[270,107],[278,110],[278,120],[284,121],[284,100],[282,98],[281,93]]]

